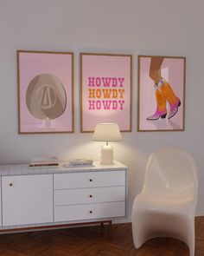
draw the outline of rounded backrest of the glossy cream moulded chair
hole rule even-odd
[[[194,197],[197,200],[197,168],[193,157],[179,148],[162,148],[150,155],[143,192],[163,197]]]

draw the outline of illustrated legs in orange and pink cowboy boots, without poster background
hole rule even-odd
[[[178,112],[178,107],[181,105],[180,99],[175,95],[174,90],[161,76],[162,63],[163,57],[151,57],[150,78],[155,83],[156,112],[155,114],[147,117],[147,120],[157,120],[160,117],[165,118],[167,115],[166,102],[169,102],[170,106],[168,119],[173,117]]]

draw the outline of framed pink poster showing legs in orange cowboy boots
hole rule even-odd
[[[185,57],[138,56],[137,131],[183,131]]]

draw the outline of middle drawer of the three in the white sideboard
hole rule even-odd
[[[125,187],[94,187],[54,191],[54,206],[125,200]]]

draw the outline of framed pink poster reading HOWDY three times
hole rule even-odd
[[[81,132],[99,122],[131,131],[131,55],[80,54]]]

